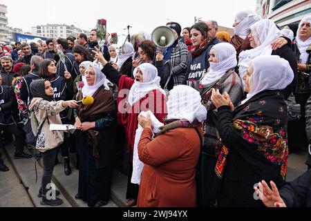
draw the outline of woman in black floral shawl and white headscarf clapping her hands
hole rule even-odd
[[[260,56],[243,78],[247,98],[233,112],[229,95],[211,95],[221,138],[218,206],[263,206],[254,198],[254,185],[272,180],[281,188],[286,175],[288,113],[281,90],[294,79],[293,71],[279,56]]]

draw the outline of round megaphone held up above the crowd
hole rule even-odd
[[[167,26],[159,26],[153,30],[151,39],[158,48],[164,50],[164,48],[169,48],[169,46],[173,45],[175,35],[171,28],[168,28]]]

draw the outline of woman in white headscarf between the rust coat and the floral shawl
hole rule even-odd
[[[215,106],[211,104],[211,89],[216,88],[221,93],[229,94],[234,105],[241,102],[244,94],[241,79],[234,72],[237,64],[234,46],[229,43],[216,44],[209,53],[209,72],[200,81],[200,94],[202,104],[207,109],[207,120],[203,123],[204,139],[198,176],[199,206],[211,205],[210,191],[212,180],[215,179],[214,167],[217,160],[218,118]]]

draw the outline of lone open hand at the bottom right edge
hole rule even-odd
[[[270,184],[272,189],[270,189],[264,180],[259,182],[259,189],[256,186],[254,187],[259,198],[263,200],[263,204],[267,207],[287,207],[280,196],[276,184],[274,184],[273,181],[271,181]]]

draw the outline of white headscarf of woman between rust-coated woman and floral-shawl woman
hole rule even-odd
[[[200,82],[203,86],[218,81],[228,70],[235,68],[238,64],[238,61],[236,61],[236,49],[232,44],[227,42],[216,44],[211,48],[211,52],[215,53],[218,63],[209,61],[209,66],[211,67],[209,73]]]

